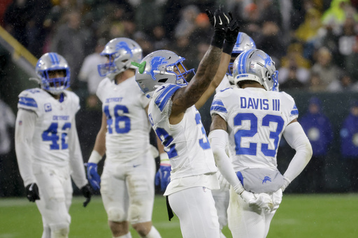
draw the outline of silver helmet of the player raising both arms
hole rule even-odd
[[[157,50],[148,54],[141,61],[135,64],[136,82],[148,98],[152,97],[155,89],[162,84],[177,84],[180,87],[187,85],[185,78],[189,73],[194,73],[194,68],[187,70],[182,64],[185,58],[169,50]]]

